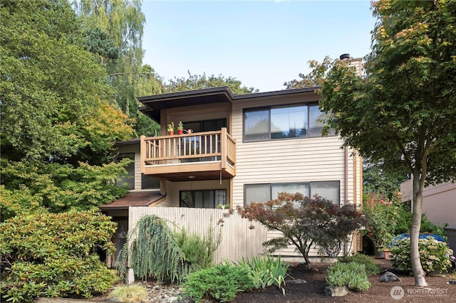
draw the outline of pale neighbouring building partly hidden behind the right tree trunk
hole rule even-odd
[[[412,180],[400,184],[402,201],[413,201]],[[435,225],[456,225],[456,183],[427,186],[423,190],[423,213]]]

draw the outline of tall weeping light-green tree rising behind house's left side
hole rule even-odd
[[[136,97],[161,92],[162,80],[142,65],[145,16],[141,0],[75,0],[73,9],[86,30],[86,49],[95,53],[109,75],[116,105],[135,120],[136,135],[152,135],[160,126],[142,115]]]

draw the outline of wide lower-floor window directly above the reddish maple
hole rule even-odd
[[[281,192],[302,193],[312,197],[316,194],[323,198],[340,203],[339,181],[316,181],[302,183],[276,183],[276,184],[245,184],[244,204],[252,202],[267,202],[276,199]]]

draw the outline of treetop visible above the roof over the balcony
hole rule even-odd
[[[169,83],[165,83],[163,90],[164,92],[185,92],[187,90],[202,90],[203,88],[222,86],[229,87],[234,95],[259,92],[254,87],[242,86],[242,82],[236,78],[225,78],[223,75],[218,75],[217,77],[211,75],[207,77],[205,73],[202,75],[192,75],[190,71],[188,71],[188,78],[174,78]]]

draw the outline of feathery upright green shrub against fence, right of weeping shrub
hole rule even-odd
[[[214,261],[214,252],[220,244],[221,236],[215,236],[214,230],[209,228],[202,238],[197,234],[189,235],[185,228],[175,233],[177,245],[184,254],[185,262],[193,268],[207,268]]]

